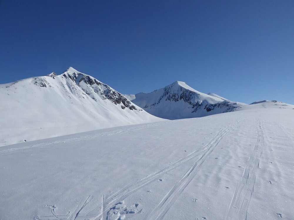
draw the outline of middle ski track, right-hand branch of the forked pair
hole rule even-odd
[[[236,125],[238,125],[243,119],[239,120],[237,123],[233,124],[230,127],[227,127],[220,131],[212,140],[205,145],[202,150],[202,154],[200,157],[194,162],[192,167],[188,169],[178,182],[172,187],[172,189],[161,199],[159,204],[153,209],[150,213],[146,214],[144,220],[151,219],[155,216],[155,220],[163,219],[167,211],[170,209],[172,204],[176,201],[178,196],[183,192],[183,190],[188,186],[188,184],[193,180],[198,170],[201,168],[203,162],[208,158],[208,156],[212,153],[214,148],[218,145],[218,143],[223,139],[223,137],[229,133]],[[153,219],[153,218],[152,218]]]

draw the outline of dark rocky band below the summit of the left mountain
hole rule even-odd
[[[128,108],[130,110],[137,110],[136,107],[130,101],[128,101],[128,99],[126,99],[126,97],[124,97],[122,94],[116,92],[108,85],[102,82],[99,82],[97,79],[91,76],[84,75],[81,73],[73,73],[73,74],[64,73],[62,76],[65,78],[71,79],[79,87],[81,87],[81,82],[84,82],[86,85],[88,85],[89,87],[93,89],[93,92],[99,94],[99,96],[101,96],[103,99],[108,99],[115,105],[122,104],[122,109]],[[77,79],[79,80],[77,81]],[[83,89],[83,91],[86,94],[91,95],[90,91],[86,90],[83,87],[81,87],[81,89]]]

